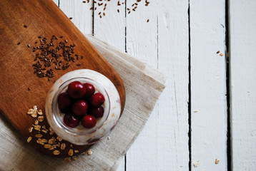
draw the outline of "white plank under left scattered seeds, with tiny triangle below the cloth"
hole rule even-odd
[[[120,1],[120,4],[122,2],[124,1]],[[125,6],[117,6],[117,1],[103,1],[103,3],[102,6],[94,5],[94,36],[120,51],[125,51]],[[104,10],[105,4],[107,6]],[[125,170],[124,157],[121,161],[117,171]]]

